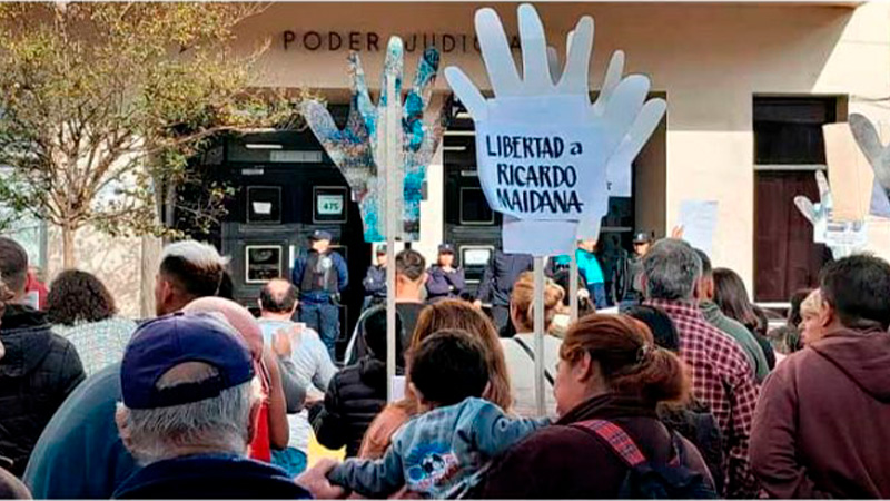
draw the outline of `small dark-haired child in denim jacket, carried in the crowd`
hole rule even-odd
[[[366,498],[403,485],[427,498],[455,498],[479,480],[493,458],[550,421],[508,416],[479,399],[488,384],[484,348],[465,331],[439,331],[411,354],[409,391],[422,413],[396,432],[379,460],[349,459],[332,483]]]

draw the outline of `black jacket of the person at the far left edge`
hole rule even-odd
[[[21,477],[52,414],[86,377],[75,346],[50,332],[46,314],[10,305],[0,321],[0,455]]]

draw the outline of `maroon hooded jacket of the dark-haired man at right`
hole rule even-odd
[[[890,498],[890,334],[838,330],[764,382],[751,462],[773,498]]]

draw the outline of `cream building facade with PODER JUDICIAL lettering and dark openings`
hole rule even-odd
[[[481,7],[279,3],[247,20],[234,43],[248,53],[269,42],[255,76],[257,87],[320,91],[343,115],[349,98],[348,52],[359,52],[368,82],[376,87],[390,36],[405,41],[406,79],[423,48],[433,43],[442,51],[443,68],[459,66],[486,89],[473,27]],[[515,37],[516,4],[493,7]],[[719,203],[715,266],[735,269],[759,301],[782,301],[793,288],[813,283],[824,249],[812,244],[809,224],[792,199],[799,194],[818,198],[813,173],[825,168],[821,125],[846,121],[850,112],[890,124],[890,4],[615,2],[541,3],[537,9],[561,56],[577,19],[593,16],[593,91],[611,53],[621,49],[625,72],[646,73],[651,94],[668,101],[665,119],[634,164],[633,197],[613,200],[603,247],[626,246],[635,229],[668,235],[683,200],[713,199]],[[434,106],[448,94],[439,77]],[[421,242],[414,248],[432,259],[441,242],[455,242],[465,247],[461,258],[477,273],[496,246],[500,219],[481,203],[473,178],[472,122],[459,109],[455,115],[428,168]],[[369,246],[354,238],[360,222],[346,184],[308,131],[250,136],[227,145],[218,161],[239,187],[235,204],[240,208],[222,232],[222,246],[233,255],[233,273],[244,278],[245,299],[265,275],[289,269],[315,227],[334,229],[347,244],[358,273],[354,287],[359,285]],[[299,202],[297,208],[294,196],[312,202]],[[280,207],[267,213],[265,204],[276,200]],[[888,254],[890,225],[876,219],[869,225],[870,247]],[[283,237],[283,228],[290,236]],[[249,253],[255,256],[248,258]]]

